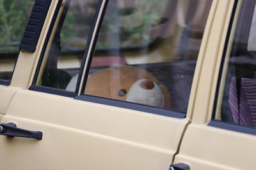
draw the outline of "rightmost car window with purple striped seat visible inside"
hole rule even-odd
[[[244,0],[233,24],[230,53],[224,53],[216,120],[256,127],[256,1]]]

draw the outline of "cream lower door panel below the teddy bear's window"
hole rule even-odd
[[[0,149],[15,152],[15,157],[1,159],[4,160],[2,167],[7,167],[8,161],[23,162],[20,157],[29,159],[31,150],[35,150],[36,169],[49,168],[49,164],[45,164],[48,161],[44,162],[40,157],[67,163],[56,164],[56,169],[70,166],[78,169],[166,169],[188,121],[20,90],[13,97],[2,122],[43,132],[42,141],[1,138]],[[20,140],[22,145],[19,145]],[[65,152],[63,148],[66,148]],[[81,157],[86,153],[86,157]],[[136,157],[132,157],[134,153]],[[55,160],[58,155],[61,159]],[[100,164],[95,163],[98,161]],[[26,164],[17,163],[12,167],[22,169]]]

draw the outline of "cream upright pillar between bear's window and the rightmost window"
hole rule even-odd
[[[218,8],[211,27],[208,46],[205,52],[204,64],[198,82],[193,123],[202,124],[211,119],[211,110],[216,92],[220,61],[227,38],[228,25],[233,10],[234,1],[218,1]],[[225,18],[225,20],[223,19]],[[201,90],[202,89],[202,90]],[[205,101],[208,101],[207,104]],[[211,106],[210,106],[211,104]]]

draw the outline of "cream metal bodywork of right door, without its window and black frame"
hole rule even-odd
[[[237,3],[234,23],[236,23],[241,2]],[[218,4],[219,11],[216,11],[216,15],[222,16],[215,17],[217,23],[214,25],[216,27],[213,25],[214,31],[211,31],[209,40],[212,43],[209,46],[211,49],[207,50],[209,53],[206,52],[207,56],[212,56],[204,60],[202,77],[198,84],[198,88],[204,90],[200,90],[196,96],[192,122],[188,125],[179,153],[175,156],[175,163],[189,164],[191,169],[254,169],[255,167],[253,160],[253,153],[256,151],[255,136],[208,125],[212,120],[223,47],[227,43],[228,26],[234,11],[234,4],[235,1],[220,1]],[[225,56],[230,55],[230,42],[232,42],[230,39],[232,40],[234,36],[234,29],[230,32]],[[227,70],[223,71],[223,75],[225,74],[227,74]],[[225,80],[225,76],[223,79]],[[222,83],[220,94],[223,93],[223,87]],[[205,103],[204,101],[207,101],[208,104],[202,104]],[[217,107],[219,109],[217,109],[216,117],[220,117],[220,113],[218,113],[220,106]]]

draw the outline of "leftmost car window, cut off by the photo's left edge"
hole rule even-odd
[[[34,0],[0,1],[0,83],[9,82]]]

